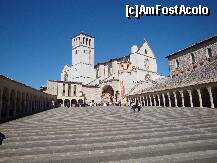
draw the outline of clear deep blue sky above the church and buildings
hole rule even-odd
[[[127,19],[126,5],[209,7],[210,16],[144,16]],[[158,73],[169,73],[169,54],[217,35],[214,0],[0,0],[0,74],[34,88],[60,80],[71,64],[71,40],[95,37],[95,63],[130,53],[146,39]]]

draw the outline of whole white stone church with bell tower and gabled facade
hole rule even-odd
[[[46,93],[56,95],[65,106],[126,102],[139,85],[159,78],[155,55],[145,40],[133,45],[128,55],[94,65],[94,37],[79,33],[72,38],[72,64],[65,65],[60,80],[48,80]]]

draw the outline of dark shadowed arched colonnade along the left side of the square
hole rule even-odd
[[[51,109],[56,97],[0,76],[0,122]]]

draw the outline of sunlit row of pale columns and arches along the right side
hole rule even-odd
[[[128,96],[129,105],[133,102],[142,106],[217,108],[217,84]]]

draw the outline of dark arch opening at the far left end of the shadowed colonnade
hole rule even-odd
[[[9,90],[8,88],[4,88],[2,92],[2,111],[1,111],[2,119],[7,118],[8,109],[9,109]]]

